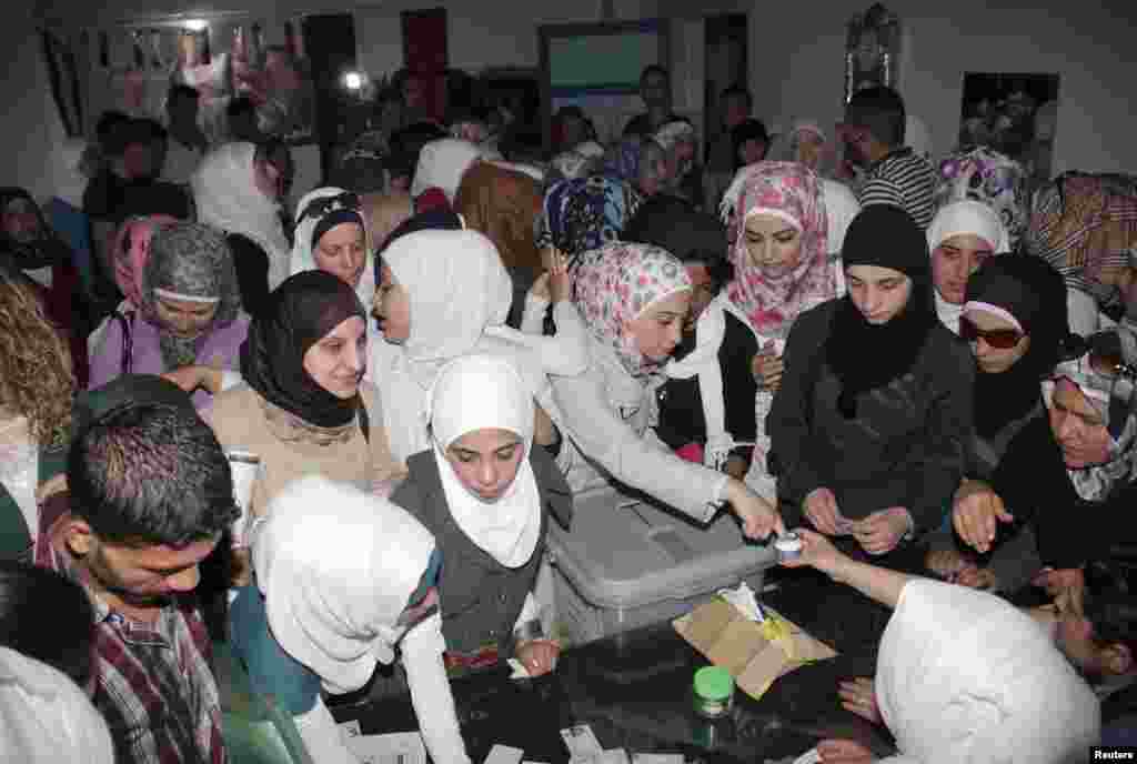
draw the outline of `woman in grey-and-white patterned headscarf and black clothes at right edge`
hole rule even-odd
[[[1030,526],[1041,564],[1034,583],[1051,593],[1082,588],[1087,562],[1134,538],[1137,337],[1121,324],[1088,347],[1043,382],[1048,416],[1023,426],[990,484],[957,496],[953,512],[960,538],[980,554]]]

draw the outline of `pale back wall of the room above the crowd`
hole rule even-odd
[[[44,192],[42,167],[49,147],[61,135],[47,90],[38,41],[25,9],[33,0],[9,0],[0,43],[8,55],[0,102],[0,183],[22,183]],[[1009,0],[1006,5],[1019,0]],[[39,0],[49,10],[63,0]],[[438,0],[397,0],[355,5],[364,66],[390,72],[402,60],[399,11],[440,5]],[[692,9],[688,0],[616,0],[617,18],[699,13],[750,13],[750,88],[756,111],[770,122],[792,117],[833,122],[841,111],[845,20],[869,0],[802,0],[748,7],[742,0],[709,0]],[[985,0],[890,0],[902,17],[907,50],[901,59],[901,90],[911,110],[932,131],[937,150],[946,149],[958,128],[965,70],[1059,73],[1059,123],[1055,172],[1122,169],[1137,173],[1137,117],[1130,96],[1137,83],[1137,3],[1099,0],[1079,3],[1077,13],[1059,0],[1035,9],[989,8]],[[101,0],[83,3],[76,23],[111,23],[142,13],[248,10],[265,17],[290,13],[329,13],[352,7],[343,0],[231,0],[211,6],[191,0]],[[450,63],[463,68],[536,66],[537,25],[597,20],[601,0],[453,0],[449,17]],[[68,9],[70,10],[70,9]],[[948,15],[949,14],[949,15]],[[697,84],[691,83],[697,89]],[[686,85],[683,85],[686,86]]]

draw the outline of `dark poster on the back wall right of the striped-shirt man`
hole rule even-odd
[[[960,148],[986,146],[1011,157],[1037,188],[1054,169],[1057,98],[1056,74],[964,74]]]

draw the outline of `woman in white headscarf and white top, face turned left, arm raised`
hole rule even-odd
[[[556,420],[547,374],[579,374],[587,364],[583,324],[568,301],[554,307],[554,338],[505,326],[513,284],[492,242],[475,231],[426,230],[396,239],[383,251],[380,273],[374,313],[384,342],[375,348],[368,379],[382,393],[396,459],[430,448],[428,390],[448,360],[474,351],[511,358],[530,395]],[[538,442],[551,445],[549,438]]]

